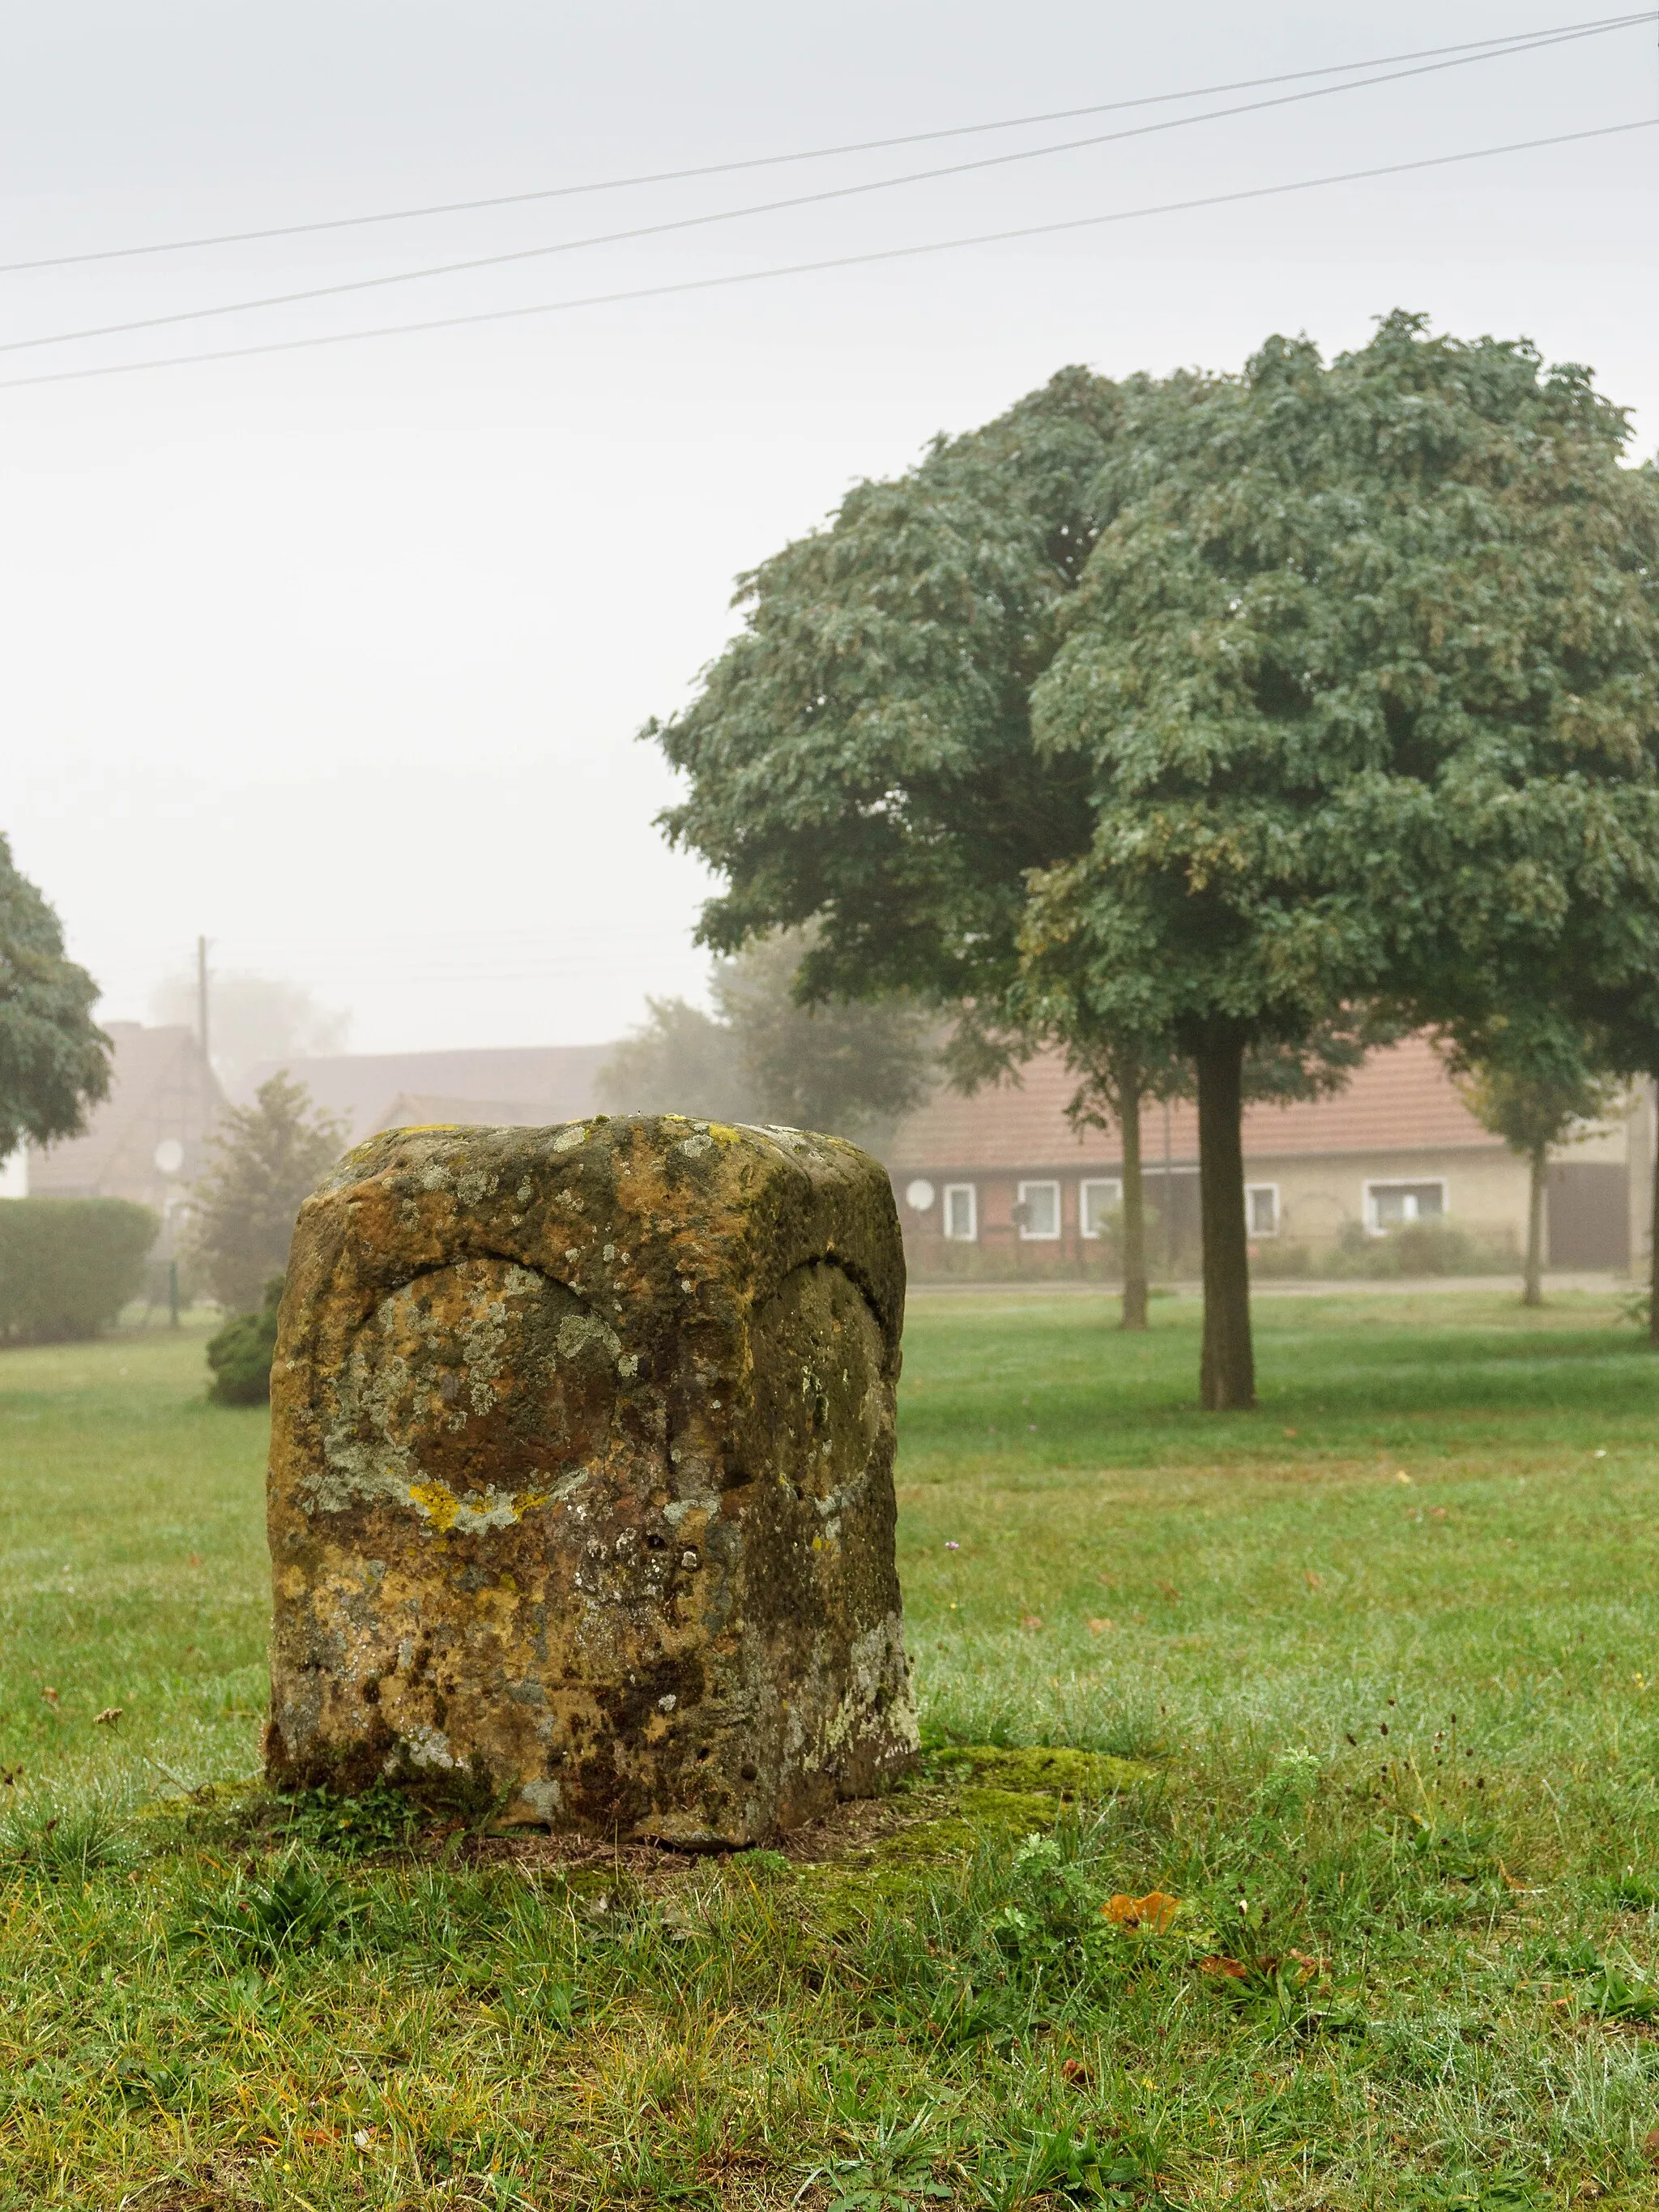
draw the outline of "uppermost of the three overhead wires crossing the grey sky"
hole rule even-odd
[[[1221,93],[1252,93],[1267,84],[1301,84],[1307,77],[1349,75],[1356,69],[1391,69],[1396,62],[1425,62],[1440,55],[1475,55],[1495,60],[1531,44],[1546,44],[1555,38],[1595,38],[1604,31],[1624,31],[1632,24],[1655,22],[1659,13],[1644,9],[1635,15],[1595,15],[1571,24],[1546,24],[1540,31],[1515,31],[1504,38],[1473,38],[1455,46],[1416,46],[1407,53],[1369,55],[1363,62],[1327,62],[1321,69],[1285,69],[1270,77],[1234,77],[1228,84],[1194,84],[1181,93],[1141,93],[1135,100],[1099,100],[1082,108],[1048,108],[1040,115],[1004,115],[984,124],[951,124],[942,131],[905,131],[898,137],[849,139],[841,146],[807,146],[794,153],[752,155],[741,161],[706,161],[697,168],[659,168],[635,177],[599,177],[586,184],[551,184],[531,192],[493,192],[484,199],[442,199],[418,208],[383,208],[372,215],[336,215],[312,223],[270,223],[263,230],[215,230],[190,239],[153,239],[144,246],[100,246],[75,254],[42,254],[33,261],[0,261],[0,276],[15,276],[27,270],[80,268],[88,261],[131,261],[142,254],[181,254],[206,246],[257,246],[265,239],[314,237],[325,230],[361,230],[374,223],[414,223],[436,215],[476,215],[484,208],[522,208],[544,199],[573,199],[586,192],[622,192],[653,184],[690,184],[697,177],[730,177],[752,168],[783,168],[792,161],[832,161],[854,153],[891,153],[896,146],[927,146],[940,139],[978,137],[989,131],[1024,131],[1035,124],[1079,122],[1084,115],[1115,115],[1128,108],[1172,106],[1181,100],[1212,100]]]

